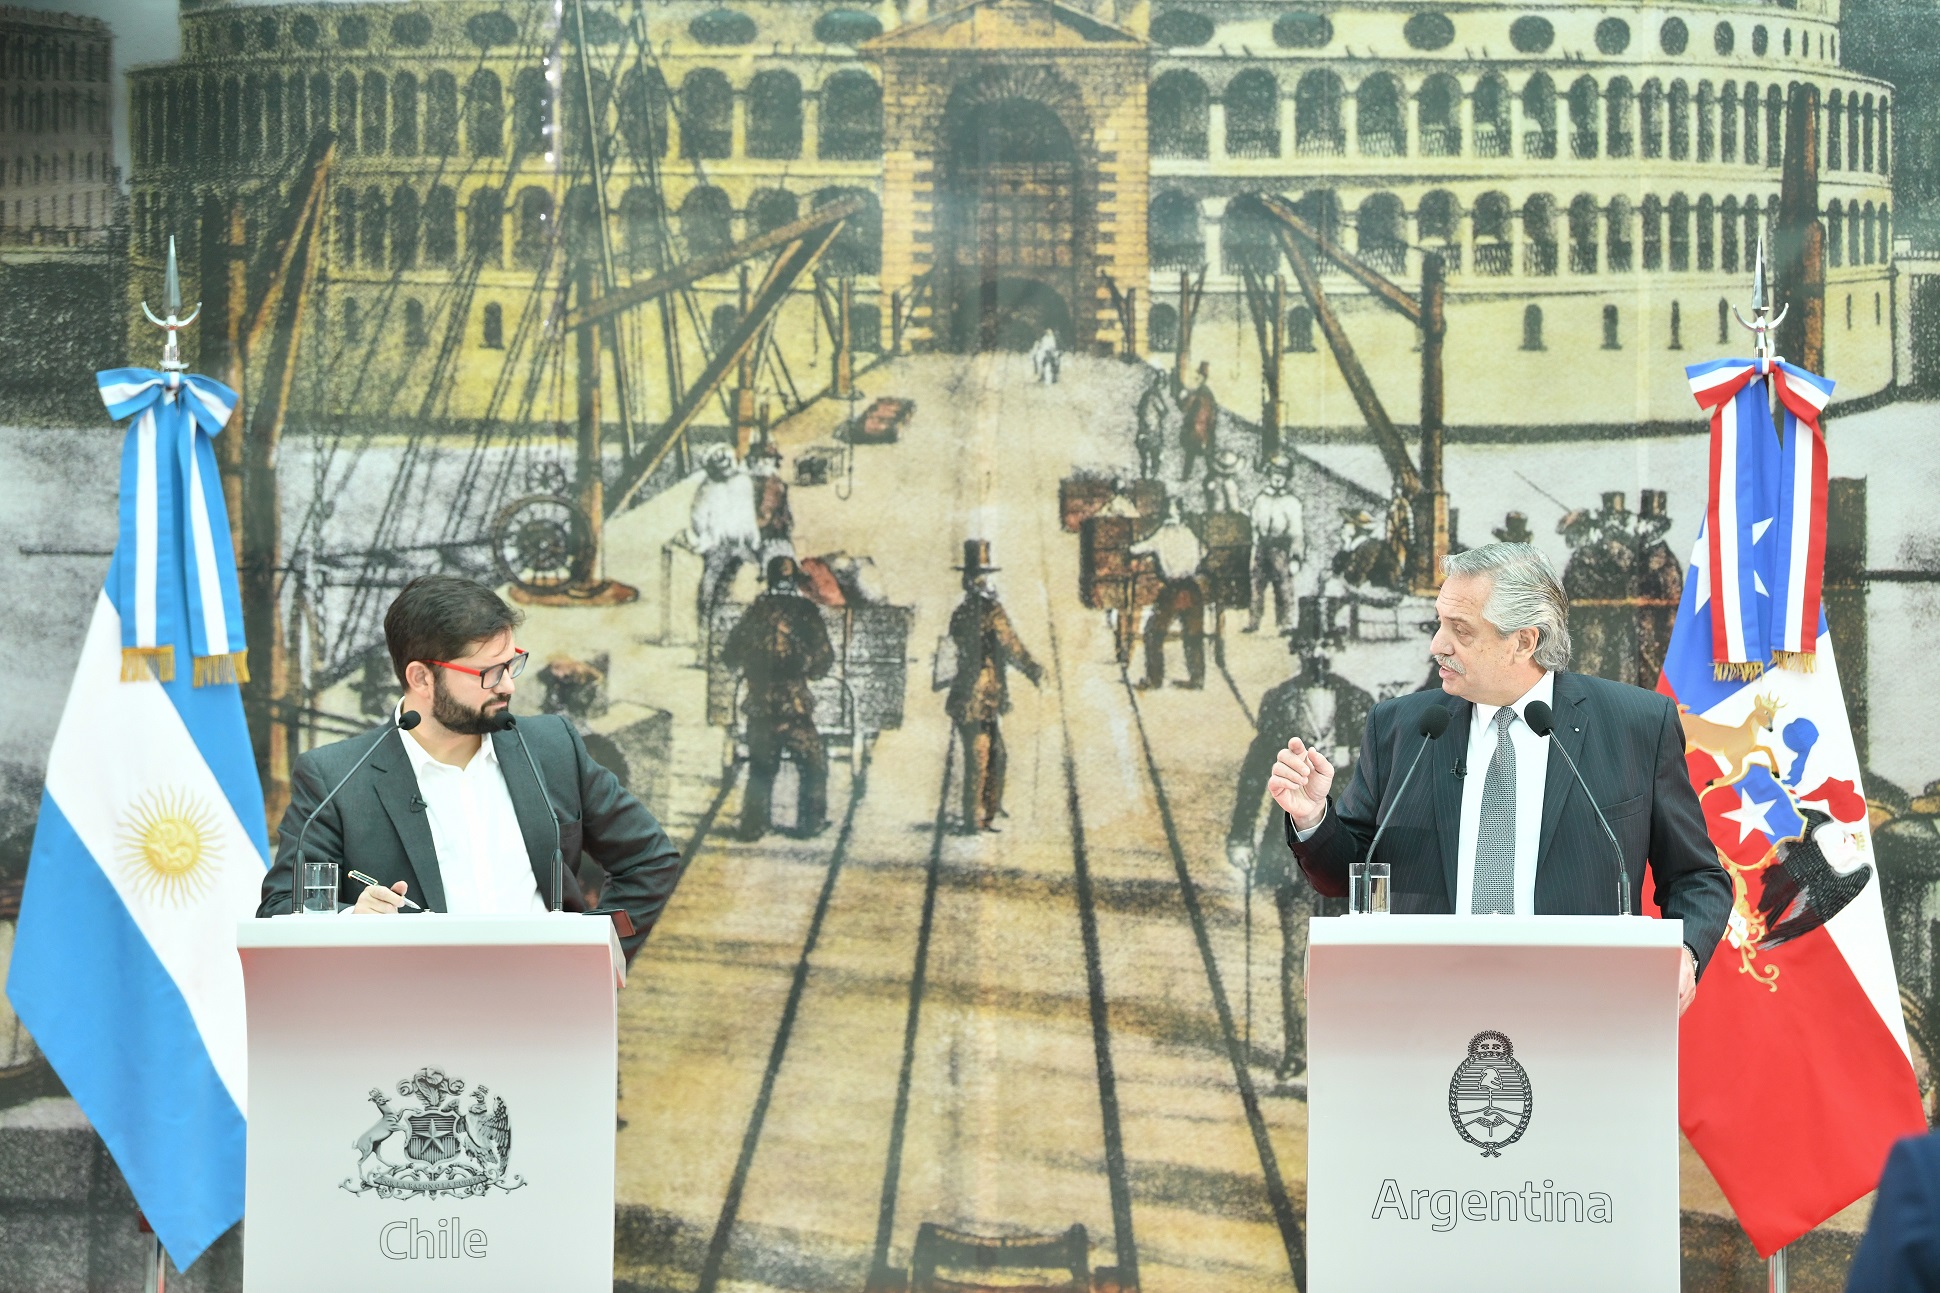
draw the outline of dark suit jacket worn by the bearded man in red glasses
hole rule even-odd
[[[590,907],[576,876],[584,852],[607,874],[599,893],[601,905],[625,909],[632,918],[632,936],[621,940],[630,961],[673,897],[673,885],[681,878],[681,852],[660,829],[654,813],[646,812],[613,773],[594,763],[570,722],[557,714],[535,714],[522,720],[516,732],[497,732],[489,740],[504,771],[504,786],[512,796],[541,897],[553,891],[553,821],[545,810],[545,794],[532,779],[532,765],[518,749],[520,738],[530,744],[559,810],[565,852],[563,905],[566,911]],[[289,769],[289,808],[277,829],[275,866],[264,876],[258,916],[279,916],[291,909],[291,872],[303,821],[330,786],[371,749],[372,740],[378,747],[369,763],[357,769],[357,775],[338,790],[338,798],[330,800],[310,823],[303,854],[312,862],[341,866],[345,897],[363,889],[349,881],[347,872],[355,866],[386,885],[409,881],[407,895],[413,901],[427,911],[444,911],[444,878],[438,874],[438,850],[431,841],[431,819],[417,794],[417,775],[404,749],[407,738],[384,724],[376,732],[297,755]]]

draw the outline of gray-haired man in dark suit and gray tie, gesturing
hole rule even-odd
[[[1286,845],[1308,881],[1346,893],[1348,866],[1368,856],[1387,821],[1393,907],[1463,914],[1616,914],[1618,868],[1597,821],[1622,848],[1632,911],[1643,868],[1665,916],[1684,920],[1678,1010],[1698,992],[1730,918],[1732,889],[1705,833],[1684,765],[1678,709],[1655,691],[1566,672],[1569,602],[1556,567],[1529,544],[1488,544],[1443,559],[1430,652],[1439,691],[1375,705],[1354,779],[1333,798],[1335,769],[1292,738],[1267,790],[1286,810]],[[1531,730],[1529,707],[1554,714],[1554,736]],[[1422,714],[1449,711],[1447,738],[1397,798],[1422,742]],[[1583,802],[1560,742],[1583,773]]]

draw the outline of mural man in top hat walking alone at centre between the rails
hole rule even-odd
[[[956,678],[945,711],[956,722],[964,746],[964,817],[962,831],[995,831],[1003,813],[1003,714],[1011,709],[1011,666],[1024,672],[1030,685],[1040,685],[1044,666],[1011,627],[1011,617],[997,600],[989,577],[989,540],[964,540],[962,571],[964,600],[951,613],[951,641],[956,646]]]

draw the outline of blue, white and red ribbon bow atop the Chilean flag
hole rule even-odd
[[[1715,359],[1686,369],[1711,414],[1707,577],[1717,678],[1769,664],[1810,670],[1826,575],[1826,431],[1833,382],[1783,359]],[[1785,414],[1771,429],[1771,396]]]

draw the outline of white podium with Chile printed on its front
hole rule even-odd
[[[237,945],[244,1293],[611,1291],[611,922],[277,916]]]

